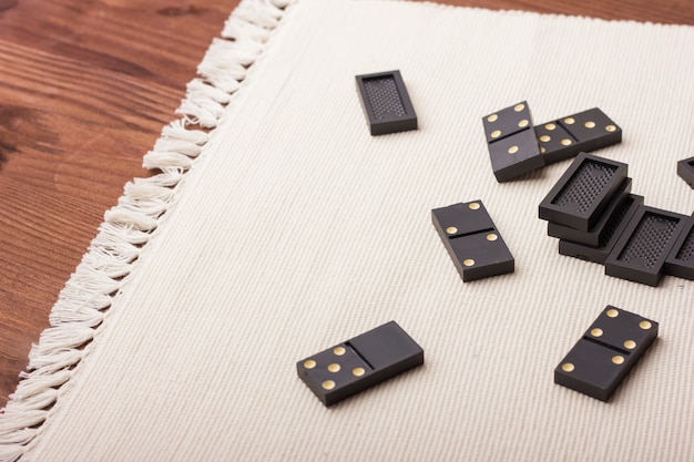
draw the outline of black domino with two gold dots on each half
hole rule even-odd
[[[481,201],[435,208],[431,222],[463,283],[513,271],[513,256]]]

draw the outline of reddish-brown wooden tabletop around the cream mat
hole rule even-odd
[[[691,0],[441,2],[694,24]],[[236,3],[0,0],[0,408]]]

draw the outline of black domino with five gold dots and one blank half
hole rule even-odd
[[[296,363],[299,378],[326,405],[425,362],[425,352],[390,321]]]

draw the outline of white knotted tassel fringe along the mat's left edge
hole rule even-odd
[[[104,215],[96,237],[59,295],[51,327],[29,353],[29,366],[17,391],[0,411],[0,462],[22,458],[41,433],[55,401],[64,392],[84,347],[104,322],[105,311],[136,267],[142,247],[174,202],[175,189],[203,152],[224,109],[242,86],[248,68],[264,52],[285,8],[295,0],[242,0],[198,66],[201,78],[187,84],[176,114],[143,160],[159,173],[125,185],[115,207]]]

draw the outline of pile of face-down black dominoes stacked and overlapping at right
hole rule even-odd
[[[576,156],[540,204],[559,253],[654,287],[663,273],[694,279],[694,215],[645,206],[626,172],[620,162]]]

